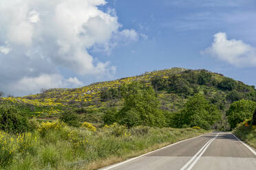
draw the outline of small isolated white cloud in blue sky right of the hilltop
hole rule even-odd
[[[201,53],[234,66],[256,66],[256,48],[242,40],[228,40],[226,33],[223,32],[215,34],[211,47]]]

